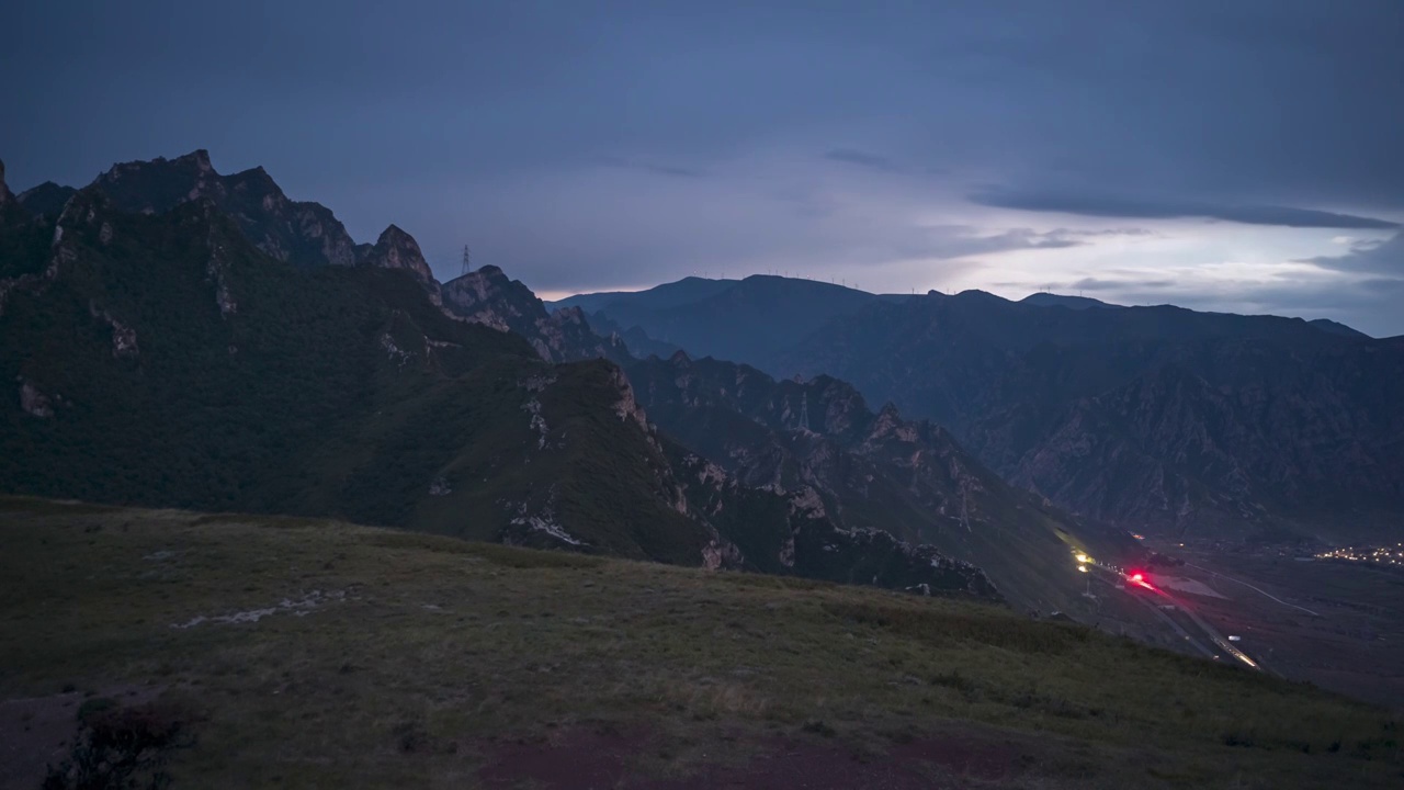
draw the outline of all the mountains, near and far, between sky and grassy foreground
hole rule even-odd
[[[1404,343],[750,277],[439,283],[204,150],[14,195],[0,486],[338,516],[1077,613],[1127,533],[1397,529]],[[873,403],[875,406],[869,406]]]

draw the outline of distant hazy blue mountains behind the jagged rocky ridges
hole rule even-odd
[[[1400,337],[1054,294],[893,297],[776,277],[557,304],[694,357],[848,381],[949,429],[1016,486],[1130,531],[1341,543],[1397,534],[1404,512]]]

